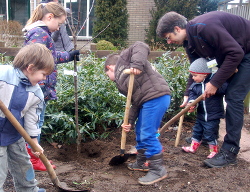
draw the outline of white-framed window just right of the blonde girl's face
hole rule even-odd
[[[82,0],[80,9],[78,8],[78,2],[77,0],[66,0],[64,1],[64,4],[67,8],[71,8],[72,10],[72,16],[75,19],[74,25],[77,25],[77,18],[78,18],[78,12],[80,11],[80,26],[82,26],[82,29],[80,30],[80,33],[78,34],[79,39],[89,39],[92,37],[92,29],[93,29],[93,18],[94,18],[94,8],[92,8],[93,0]],[[89,13],[89,11],[91,11]],[[86,22],[85,22],[86,21]],[[83,26],[84,24],[84,26]],[[79,31],[77,31],[78,33]],[[71,34],[70,30],[68,29],[68,33]]]

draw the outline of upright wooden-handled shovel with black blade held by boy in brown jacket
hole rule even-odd
[[[130,73],[130,70],[124,70],[124,73]],[[126,108],[125,108],[124,120],[123,120],[123,123],[125,125],[128,125],[128,116],[129,116],[129,109],[130,109],[132,91],[133,91],[133,86],[134,86],[134,78],[135,78],[134,74],[130,73],[128,95],[127,95]],[[120,155],[113,157],[110,160],[109,165],[111,166],[120,165],[128,160],[130,154],[125,154],[126,137],[127,137],[127,133],[122,129]]]

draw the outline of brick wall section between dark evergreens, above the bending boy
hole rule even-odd
[[[129,14],[128,44],[145,40],[145,29],[151,20],[150,10],[154,7],[154,0],[127,0]]]

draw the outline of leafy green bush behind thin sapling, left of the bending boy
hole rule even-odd
[[[104,73],[103,62],[89,55],[78,65],[78,120],[84,139],[105,138],[123,120],[126,98]],[[64,70],[73,70],[73,64],[58,66],[58,100],[49,101],[42,130],[50,142],[74,142],[74,78],[63,74]]]

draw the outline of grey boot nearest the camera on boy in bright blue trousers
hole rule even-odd
[[[149,171],[144,176],[138,179],[142,185],[151,185],[167,177],[167,171],[163,165],[163,153],[153,155],[148,159]]]

